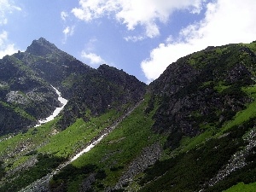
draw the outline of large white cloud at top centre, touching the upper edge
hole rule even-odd
[[[166,22],[177,9],[188,9],[199,13],[205,0],[80,0],[79,8],[72,10],[79,20],[90,21],[103,15],[113,15],[125,25],[128,31],[143,26],[144,36],[154,38],[160,35],[157,22]],[[141,36],[141,35],[140,35]],[[128,37],[126,40],[140,40],[141,37]]]

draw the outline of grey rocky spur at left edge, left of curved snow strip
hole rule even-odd
[[[0,60],[0,135],[26,129],[60,102],[47,81],[14,56]]]

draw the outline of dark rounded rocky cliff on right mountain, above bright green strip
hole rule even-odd
[[[251,101],[242,88],[255,84],[254,63],[253,50],[242,44],[208,47],[172,63],[149,85],[160,100],[154,131],[168,132],[167,146],[176,148],[183,136],[221,127]]]

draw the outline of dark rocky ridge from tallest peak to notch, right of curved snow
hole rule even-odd
[[[132,106],[145,92],[146,84],[135,77],[107,65],[93,69],[44,38],[16,56],[70,100],[58,124],[62,130],[77,118],[88,120],[109,108]]]

